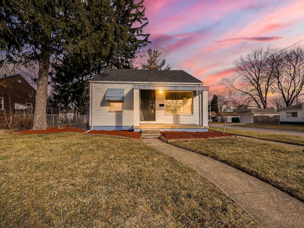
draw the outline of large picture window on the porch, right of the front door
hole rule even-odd
[[[192,114],[192,92],[166,92],[166,113]]]

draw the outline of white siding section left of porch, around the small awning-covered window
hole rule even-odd
[[[119,83],[93,83],[93,126],[133,126],[133,89],[132,85]],[[108,88],[125,89],[123,112],[109,112],[109,101],[105,100]]]

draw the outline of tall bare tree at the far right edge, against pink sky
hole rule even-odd
[[[268,59],[272,71],[271,89],[282,95],[286,107],[304,94],[304,50],[284,50]]]

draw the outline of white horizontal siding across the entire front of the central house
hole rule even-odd
[[[133,84],[123,83],[90,83],[90,124],[92,126],[133,126],[134,110],[139,113],[140,107],[135,107],[133,102]],[[125,100],[123,112],[109,112],[109,101],[105,100],[105,92],[108,88],[124,88]],[[193,93],[195,94],[195,92]],[[140,123],[168,123],[168,124],[200,124],[200,99],[199,95],[193,96],[193,114],[165,114],[165,96],[156,90],[155,120],[140,121]],[[207,99],[207,97],[204,97]],[[203,98],[203,99],[204,99]],[[139,102],[140,104],[140,102]],[[140,105],[139,105],[140,106]],[[207,118],[207,117],[206,117]],[[92,122],[92,123],[91,123]]]

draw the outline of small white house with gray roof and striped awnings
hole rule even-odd
[[[208,90],[185,71],[106,69],[90,81],[94,130],[208,131]]]

